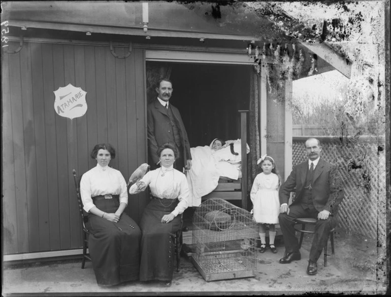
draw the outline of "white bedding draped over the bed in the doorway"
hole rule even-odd
[[[234,143],[231,153],[229,143]],[[216,189],[220,176],[238,179],[241,163],[240,139],[229,140],[218,151],[212,151],[211,146],[190,147],[191,169],[187,172],[189,185],[189,206],[199,206],[202,196]],[[247,145],[247,154],[250,148]]]

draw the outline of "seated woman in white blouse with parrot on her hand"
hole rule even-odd
[[[141,217],[140,280],[160,280],[170,286],[174,272],[174,236],[181,227],[180,214],[188,206],[189,188],[186,176],[174,169],[178,157],[176,146],[165,143],[157,150],[160,168],[149,171],[132,185],[144,191],[149,185],[151,201]]]

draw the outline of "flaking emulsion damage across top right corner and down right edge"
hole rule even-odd
[[[211,17],[221,28],[235,29],[233,23],[236,22],[237,26],[240,24],[247,29],[248,35],[259,38],[260,42],[249,45],[248,53],[254,58],[257,73],[266,69],[268,97],[273,98],[275,104],[288,105],[294,123],[298,120],[298,123],[320,124],[323,131],[315,135],[336,136],[339,147],[345,152],[338,160],[346,173],[342,175],[347,193],[343,203],[346,209],[353,209],[356,218],[371,215],[372,211],[373,219],[377,220],[377,230],[372,232],[378,243],[376,277],[384,282],[384,4],[230,2],[234,13],[228,15],[223,5],[212,5],[207,12],[199,4],[188,5],[200,15]],[[246,23],[250,15],[252,25]],[[318,57],[302,43],[327,44],[351,65],[350,79],[344,78],[344,83],[337,79],[326,81],[319,75],[316,77],[330,88],[324,97],[314,99],[309,86],[305,96],[295,97],[294,94],[292,100],[287,100],[286,81],[318,75],[324,61],[329,62],[330,56]],[[335,98],[332,89],[338,89]],[[272,135],[267,133],[266,137]],[[350,230],[354,224],[347,220],[345,227]]]

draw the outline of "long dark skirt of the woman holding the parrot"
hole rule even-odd
[[[173,278],[175,233],[181,228],[181,215],[171,222],[162,223],[161,218],[170,214],[178,204],[175,199],[152,199],[144,209],[140,222],[143,232],[141,239],[140,280],[163,280]],[[166,206],[163,206],[166,205]]]

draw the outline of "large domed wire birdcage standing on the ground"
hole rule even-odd
[[[247,210],[208,199],[194,212],[192,224],[192,261],[206,281],[254,276],[258,234]]]

